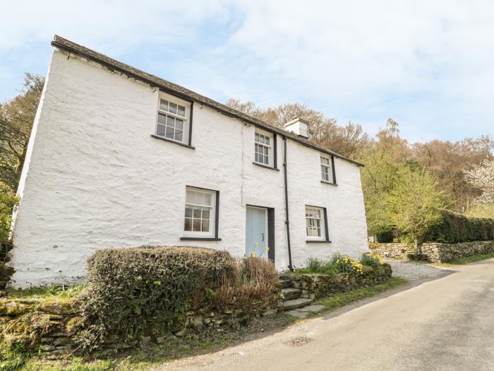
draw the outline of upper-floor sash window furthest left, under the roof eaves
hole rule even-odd
[[[180,143],[188,142],[189,109],[190,103],[160,94],[156,135]]]

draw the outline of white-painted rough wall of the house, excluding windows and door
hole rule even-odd
[[[275,208],[276,266],[288,265],[280,171],[253,165],[254,126],[195,104],[195,150],[151,137],[158,91],[56,50],[23,170],[13,230],[14,287],[76,282],[97,249],[189,245],[245,252],[246,204]],[[319,153],[288,142],[292,257],[367,250],[359,169],[335,160],[338,186],[320,182]],[[219,242],[181,242],[186,185],[219,191]],[[332,244],[307,244],[305,205],[327,208]]]

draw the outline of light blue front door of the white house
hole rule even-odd
[[[246,257],[267,258],[267,210],[247,206]]]

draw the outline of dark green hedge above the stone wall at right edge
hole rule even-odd
[[[430,229],[426,242],[469,242],[494,240],[494,219],[469,218],[441,210],[442,221]]]

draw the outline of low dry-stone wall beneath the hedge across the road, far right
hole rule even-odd
[[[414,247],[406,244],[369,244],[370,250],[385,259],[411,259],[414,256]],[[494,241],[459,242],[445,244],[438,242],[424,243],[419,247],[420,259],[447,263],[461,257],[471,257],[478,254],[494,252]]]

